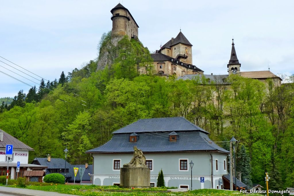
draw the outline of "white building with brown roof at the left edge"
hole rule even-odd
[[[6,159],[6,145],[13,145],[13,160],[9,162],[9,176],[11,179],[16,179],[16,177],[26,177],[26,173],[30,170],[30,174],[37,176],[36,179],[31,180],[39,180],[43,175],[42,171],[47,168],[45,165],[33,165],[28,164],[29,160],[29,151],[34,151],[33,148],[29,147],[25,143],[19,141],[15,137],[6,133],[5,131],[0,129],[0,176],[6,176],[7,172],[7,162]],[[16,172],[16,164],[20,162],[19,172]],[[40,176],[39,176],[40,174]]]

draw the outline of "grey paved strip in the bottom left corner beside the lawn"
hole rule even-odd
[[[12,188],[0,186],[0,193],[6,193],[11,195],[19,195],[19,196],[73,196],[68,194],[61,194],[57,192],[49,192],[49,191],[41,191],[41,190],[31,190],[31,189],[22,189],[22,188]]]

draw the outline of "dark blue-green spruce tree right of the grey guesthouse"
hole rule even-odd
[[[245,183],[248,187],[252,187],[252,181],[251,181],[251,166],[250,166],[250,158],[249,155],[246,152],[245,146],[242,145],[240,152],[239,152],[239,158],[237,161],[237,171],[241,172],[241,181]]]

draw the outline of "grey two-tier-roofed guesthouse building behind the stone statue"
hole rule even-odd
[[[193,188],[217,188],[227,174],[229,152],[211,141],[208,134],[183,117],[140,119],[114,131],[102,146],[86,151],[93,156],[93,184],[119,184],[120,168],[131,160],[137,146],[151,170],[151,186],[156,186],[162,169],[165,186],[191,187],[189,163],[193,161]]]

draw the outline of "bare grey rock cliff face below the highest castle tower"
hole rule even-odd
[[[106,45],[101,47],[97,62],[97,70],[103,70],[106,66],[110,68],[114,59],[118,56],[117,44],[122,39],[122,36],[112,37],[107,41]]]

